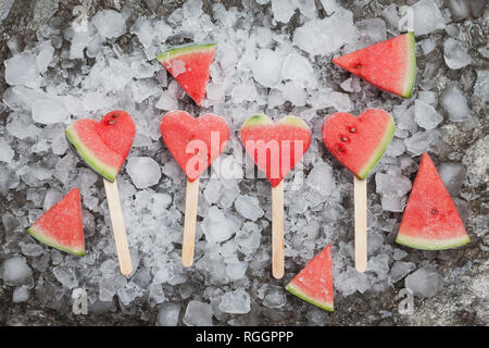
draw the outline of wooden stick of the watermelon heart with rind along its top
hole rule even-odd
[[[284,181],[272,187],[272,274],[284,276]]]

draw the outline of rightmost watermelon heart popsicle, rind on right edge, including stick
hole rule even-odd
[[[353,174],[355,206],[355,268],[365,272],[366,177],[392,140],[396,125],[384,110],[368,109],[355,117],[347,112],[326,116],[323,141],[329,152]]]

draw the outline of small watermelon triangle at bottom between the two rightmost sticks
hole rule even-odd
[[[334,311],[331,245],[311,259],[286,290],[326,311]]]

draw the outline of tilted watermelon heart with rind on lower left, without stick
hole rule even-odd
[[[95,172],[113,182],[129,154],[136,125],[127,112],[115,110],[99,122],[77,120],[66,128],[65,134],[79,158]]]

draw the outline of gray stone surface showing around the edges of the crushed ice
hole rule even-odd
[[[251,0],[253,1],[253,0]],[[136,0],[16,0],[9,11],[10,1],[0,0],[0,61],[11,57],[7,41],[12,37],[17,37],[21,46],[36,40],[36,30],[50,21],[61,21],[65,25],[73,21],[73,9],[83,3],[88,9],[88,15],[93,15],[101,9],[121,10],[123,7],[131,9],[129,23],[133,24],[141,15],[155,13],[158,16],[171,14],[175,9],[181,5],[183,0],[170,1],[136,1]],[[316,1],[318,2],[318,1]],[[381,11],[390,1],[376,0],[362,1],[340,1],[341,4],[354,12],[354,20],[369,18],[380,16]],[[412,4],[415,1],[396,1],[399,5]],[[441,3],[442,1],[436,1]],[[477,9],[477,1],[474,8]],[[239,1],[224,1],[226,8],[231,5],[240,7]],[[204,10],[209,11],[212,1],[204,1]],[[444,8],[446,11],[450,11]],[[7,14],[8,13],[8,14]],[[311,307],[293,297],[288,298],[285,310],[274,310],[262,304],[253,306],[251,312],[246,315],[234,315],[235,324],[241,322],[251,325],[489,325],[489,239],[487,234],[488,220],[488,104],[480,97],[473,94],[475,80],[477,78],[476,70],[487,70],[489,62],[478,48],[487,46],[489,37],[487,9],[478,10],[475,15],[465,20],[456,14],[457,23],[453,29],[462,30],[463,37],[469,42],[468,53],[473,63],[464,69],[451,71],[443,64],[442,41],[440,36],[447,37],[446,32],[439,32],[431,35],[437,38],[436,49],[427,57],[419,57],[418,69],[424,72],[427,64],[434,63],[436,69],[428,78],[418,74],[417,83],[419,85],[436,82],[434,90],[437,95],[443,90],[448,80],[459,80],[460,88],[469,96],[469,104],[473,111],[473,117],[476,126],[471,124],[443,124],[439,130],[441,141],[438,144],[438,159],[463,162],[467,166],[467,177],[464,181],[461,190],[461,198],[468,202],[466,207],[468,219],[466,227],[471,236],[471,244],[464,248],[443,251],[423,253],[421,251],[404,248],[409,254],[403,261],[416,263],[416,269],[425,263],[436,265],[438,272],[444,277],[444,286],[431,298],[415,298],[415,308],[413,314],[400,314],[398,311],[399,299],[397,295],[403,287],[403,281],[393,284],[390,288],[376,294],[354,294],[346,298],[339,298],[335,303],[334,313],[325,313]],[[463,16],[463,14],[462,14]],[[4,17],[3,21],[1,18]],[[293,33],[297,24],[294,16],[287,30]],[[280,28],[278,29],[280,30]],[[417,38],[419,41],[424,37]],[[125,35],[118,39],[121,47],[129,46],[130,35]],[[21,49],[22,50],[22,49]],[[426,72],[425,72],[426,73]],[[0,65],[0,76],[4,76],[4,65]],[[0,79],[0,96],[3,95],[8,85]],[[383,95],[384,96],[384,95]],[[384,98],[384,97],[383,97]],[[487,98],[486,98],[487,100]],[[383,101],[383,100],[381,100]],[[442,112],[441,109],[438,109]],[[444,115],[447,117],[447,115]],[[0,125],[7,124],[8,111],[0,109]],[[444,151],[443,151],[444,150]],[[415,172],[415,171],[414,171]],[[414,173],[413,172],[413,173]],[[411,178],[414,178],[414,174]],[[100,185],[100,183],[98,183]],[[7,216],[12,209],[20,209],[27,202],[26,192],[13,192],[13,200],[8,201],[0,196],[0,216]],[[348,204],[348,203],[347,203]],[[394,222],[400,221],[399,213],[389,215]],[[96,216],[98,222],[103,217]],[[3,219],[0,223],[0,243],[5,239],[10,233],[8,226],[15,225],[15,220]],[[11,224],[11,225],[9,225]],[[15,227],[15,226],[14,226]],[[396,228],[389,233],[396,233]],[[30,262],[29,258],[27,258]],[[51,257],[53,260],[53,257]],[[0,259],[0,263],[3,260]],[[469,261],[469,262],[467,262]],[[53,261],[51,261],[53,262]],[[49,265],[50,268],[54,265]],[[301,265],[296,264],[288,272],[299,271]],[[460,276],[457,276],[460,272]],[[39,271],[34,272],[34,277],[39,278]],[[195,284],[198,279],[192,279],[195,288],[201,289],[200,284]],[[278,282],[277,285],[285,285]],[[120,302],[96,302],[89,308],[88,315],[74,315],[66,309],[70,309],[70,299],[62,297],[54,302],[40,300],[36,290],[33,289],[27,301],[12,303],[14,287],[8,286],[0,279],[0,325],[154,325],[161,306],[150,307],[148,303],[140,303],[138,310],[127,310],[121,307]],[[57,298],[59,289],[53,286],[42,288],[46,294]],[[184,291],[183,289],[179,291]],[[193,300],[192,297],[174,295],[171,299],[184,303],[180,311],[181,316],[185,313],[186,304]],[[43,296],[42,298],[46,298]],[[198,300],[198,299],[197,299]],[[224,324],[225,319],[218,321]]]

